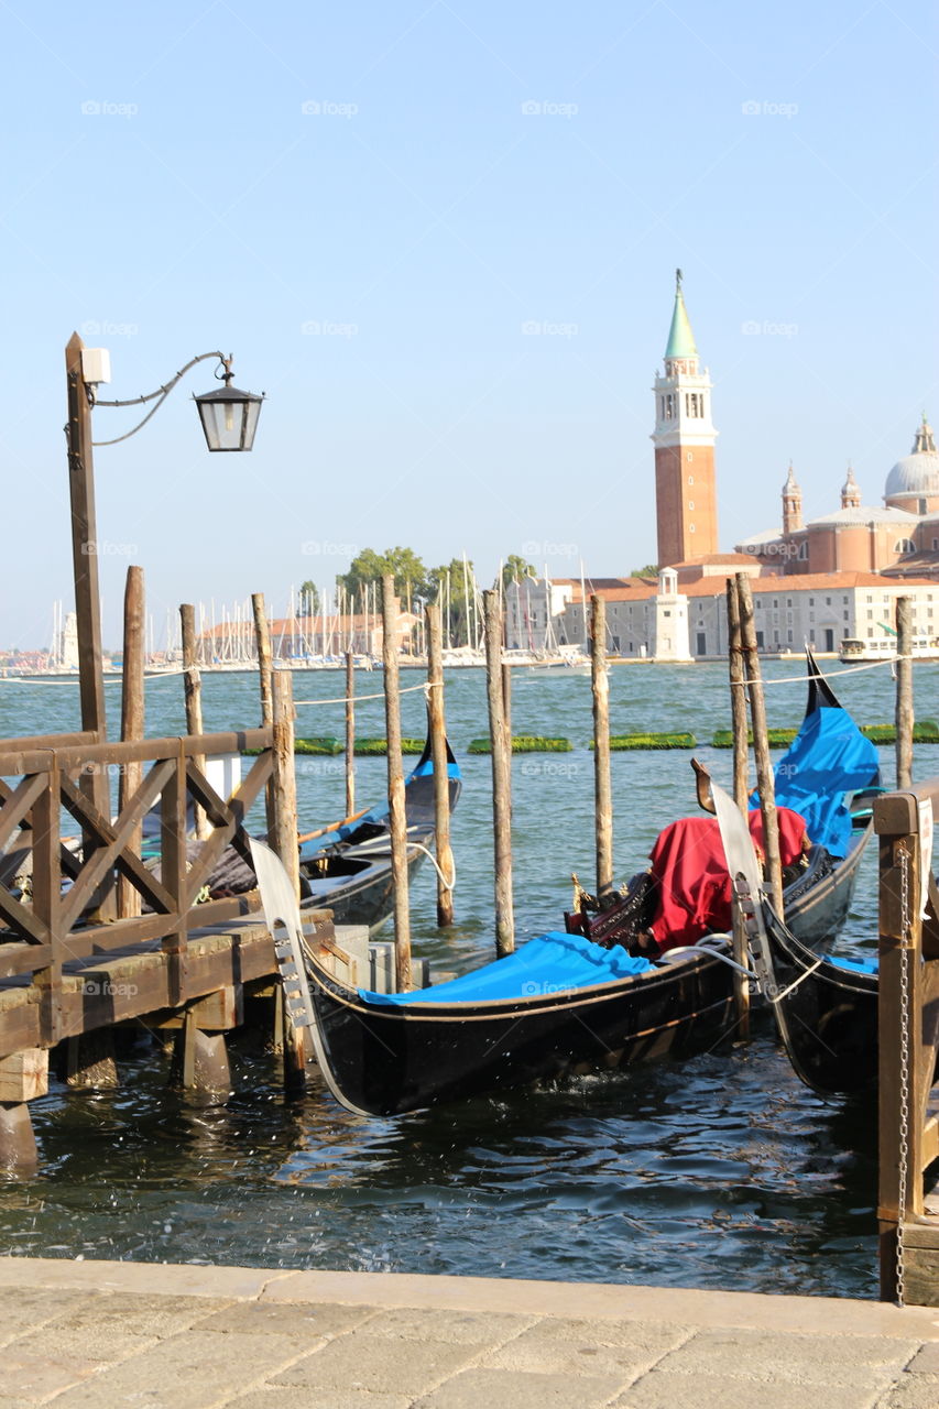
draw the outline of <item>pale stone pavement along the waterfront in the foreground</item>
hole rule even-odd
[[[0,1258],[0,1409],[936,1409],[939,1310]]]

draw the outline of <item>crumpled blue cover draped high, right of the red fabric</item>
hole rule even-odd
[[[806,714],[774,774],[777,803],[805,819],[809,841],[843,857],[852,836],[845,793],[880,781],[877,750],[847,710],[822,704]]]

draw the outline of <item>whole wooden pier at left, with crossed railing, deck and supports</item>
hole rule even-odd
[[[175,1030],[182,1084],[219,1092],[227,1089],[224,1033],[243,1022],[245,996],[264,995],[272,1014],[281,1012],[257,892],[199,900],[226,848],[250,861],[245,816],[265,788],[275,844],[296,865],[288,703],[289,681],[275,676],[274,719],[258,728],[127,743],[89,733],[0,741],[0,779],[17,779],[0,782],[0,1168],[35,1165],[28,1102],[47,1091],[54,1048],[70,1079],[89,1085],[113,1027]],[[219,796],[204,759],[248,748],[259,752],[245,778]],[[114,772],[124,776],[131,765],[142,781],[111,820],[99,800]],[[200,843],[188,827],[192,806],[207,823]],[[63,814],[80,836],[61,834]],[[141,855],[148,814],[159,817],[151,838],[158,864]],[[114,917],[118,885],[133,888],[142,913]],[[330,913],[305,917],[330,947]]]

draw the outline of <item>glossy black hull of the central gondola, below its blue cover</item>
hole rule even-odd
[[[405,1010],[365,1003],[309,965],[324,1075],[371,1116],[709,1050],[736,1024],[730,974],[688,957],[591,989]]]

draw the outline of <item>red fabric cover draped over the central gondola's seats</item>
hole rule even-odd
[[[792,865],[808,845],[805,821],[790,807],[778,809],[780,857]],[[763,816],[747,817],[763,861]],[[665,827],[651,850],[658,881],[658,913],[650,926],[661,950],[695,944],[704,934],[730,929],[730,875],[716,817],[682,817]]]

